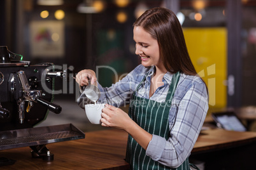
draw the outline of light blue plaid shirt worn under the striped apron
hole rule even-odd
[[[165,101],[173,74],[167,72],[162,79],[164,85],[157,88],[149,97],[150,81],[154,71],[155,67],[148,69],[139,65],[110,88],[103,88],[98,84],[101,91],[99,102],[115,107],[129,104],[132,93],[147,73],[146,80],[142,82],[136,95],[158,102]],[[204,82],[197,76],[181,74],[169,110],[170,137],[166,141],[165,138],[153,134],[146,155],[166,166],[180,166],[196,143],[207,111],[208,93]]]

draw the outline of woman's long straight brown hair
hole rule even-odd
[[[143,27],[157,39],[160,58],[168,72],[197,74],[188,55],[180,22],[173,11],[167,8],[152,8],[139,16],[133,26]]]

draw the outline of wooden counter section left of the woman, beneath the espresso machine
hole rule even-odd
[[[85,133],[85,139],[50,143],[52,162],[31,157],[31,148],[1,150],[0,157],[17,160],[0,169],[129,169],[125,162],[127,133],[118,129]]]

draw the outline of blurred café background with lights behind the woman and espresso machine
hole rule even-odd
[[[209,112],[255,110],[256,0],[0,0],[0,46],[31,64],[65,65],[75,74],[96,70],[98,81],[111,86],[140,63],[132,23],[158,6],[180,20],[192,62],[208,85]],[[39,126],[72,122],[83,131],[102,129],[87,121],[76,97],[75,88],[55,95],[62,113],[49,113]]]

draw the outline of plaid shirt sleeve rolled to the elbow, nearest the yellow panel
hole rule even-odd
[[[169,167],[180,166],[190,155],[208,111],[208,92],[203,82],[192,83],[179,97],[169,112],[169,139],[153,135],[146,149],[146,155]]]

